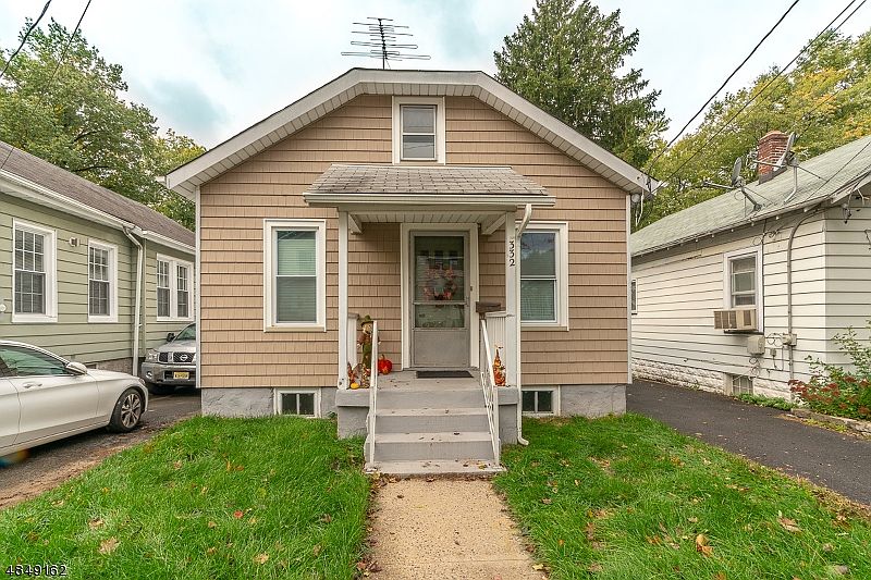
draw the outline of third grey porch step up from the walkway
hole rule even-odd
[[[490,430],[483,407],[379,410],[375,427],[378,434]]]

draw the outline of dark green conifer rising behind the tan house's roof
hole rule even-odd
[[[651,155],[667,125],[645,92],[641,71],[622,73],[638,46],[619,11],[603,15],[589,0],[537,0],[532,15],[493,57],[496,78],[579,133],[635,165]]]

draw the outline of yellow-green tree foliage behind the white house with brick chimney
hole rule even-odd
[[[799,159],[871,134],[871,30],[857,39],[823,35],[795,69],[775,78],[777,72],[772,69],[751,86],[714,101],[699,127],[648,168],[667,184],[647,206],[641,227],[722,195],[703,183],[727,184],[738,157],[748,161],[744,177],[752,182],[756,165],[749,161],[769,131],[795,132]]]

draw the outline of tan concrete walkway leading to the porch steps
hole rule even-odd
[[[514,522],[487,480],[405,479],[378,492],[378,579],[539,580]]]

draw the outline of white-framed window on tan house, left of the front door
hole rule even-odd
[[[265,330],[326,330],[327,224],[266,220]]]

